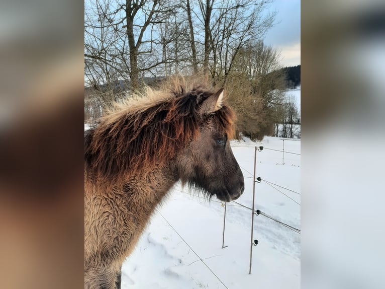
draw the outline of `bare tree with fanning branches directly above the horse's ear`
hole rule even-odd
[[[247,43],[263,37],[272,26],[275,14],[266,14],[264,10],[270,0],[249,2],[235,0],[222,2],[216,0],[197,0],[199,11],[191,10],[190,1],[187,1],[187,17],[190,33],[192,29],[191,15],[198,20],[197,26],[204,35],[191,37],[193,55],[202,45],[202,66],[207,75],[213,78],[222,77],[226,81],[238,51]],[[197,37],[198,36],[198,40]],[[196,57],[198,59],[198,57]],[[195,63],[195,60],[193,60]],[[198,67],[195,66],[195,70]]]

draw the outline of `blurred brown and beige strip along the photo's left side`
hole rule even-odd
[[[83,3],[0,10],[3,288],[83,286]]]

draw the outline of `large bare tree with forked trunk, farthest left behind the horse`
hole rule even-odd
[[[102,79],[111,84],[114,71],[117,79],[129,79],[131,89],[137,90],[140,74],[167,61],[158,55],[153,30],[168,21],[175,7],[168,0],[87,0],[84,57],[86,65],[92,64],[88,65],[90,74],[101,70]]]

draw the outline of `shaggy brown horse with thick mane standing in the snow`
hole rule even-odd
[[[235,115],[224,98],[222,89],[175,80],[85,133],[85,288],[120,288],[123,261],[178,180],[226,202],[243,193],[229,143]]]

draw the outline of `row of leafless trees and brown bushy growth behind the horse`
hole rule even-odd
[[[100,116],[146,80],[205,75],[227,89],[237,131],[272,134],[286,87],[279,53],[261,39],[270,0],[86,0],[85,113]]]

